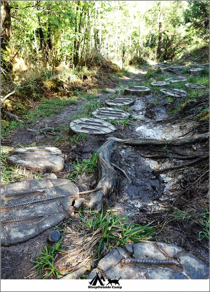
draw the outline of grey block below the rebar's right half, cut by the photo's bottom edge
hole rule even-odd
[[[175,268],[174,268],[175,269]],[[170,268],[158,268],[152,271],[149,271],[145,274],[147,279],[150,280],[186,280],[187,278],[182,274],[178,268],[172,270]]]

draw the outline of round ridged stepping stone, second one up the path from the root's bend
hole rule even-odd
[[[112,107],[101,107],[92,112],[93,116],[99,119],[121,120],[130,116],[127,112],[121,109],[113,109]]]

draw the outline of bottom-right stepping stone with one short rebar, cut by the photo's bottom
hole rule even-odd
[[[129,259],[128,262],[126,259]],[[140,259],[146,263],[136,263]],[[122,263],[122,260],[125,262]],[[141,242],[110,251],[87,279],[93,279],[97,273],[103,274],[105,279],[117,280],[203,279],[209,275],[209,267],[175,244]]]

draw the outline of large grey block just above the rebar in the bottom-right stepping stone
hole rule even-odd
[[[154,260],[166,260],[158,247],[151,242],[141,242],[133,245],[133,258],[153,258]]]

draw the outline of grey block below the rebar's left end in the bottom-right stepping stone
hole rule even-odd
[[[130,277],[137,274],[139,270],[136,266],[120,265],[117,264],[114,267],[106,270],[105,276],[107,279],[129,279]]]

